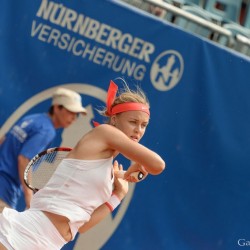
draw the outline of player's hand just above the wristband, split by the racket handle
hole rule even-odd
[[[114,171],[123,170],[122,164],[118,164],[117,161],[114,162],[113,167]],[[124,180],[122,178],[117,178],[115,176],[113,193],[115,193],[120,200],[122,200],[126,196],[126,194],[128,193],[128,189],[129,186],[127,180]]]

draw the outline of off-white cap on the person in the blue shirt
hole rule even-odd
[[[81,96],[70,89],[58,88],[52,97],[52,105],[55,104],[62,105],[74,113],[87,114],[87,110],[82,106]]]

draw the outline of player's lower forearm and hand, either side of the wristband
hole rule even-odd
[[[118,168],[117,161],[114,162],[114,170],[122,170],[121,165],[120,168]],[[128,182],[123,179],[118,179],[115,177],[113,194],[115,194],[119,198],[119,200],[122,201],[127,193],[128,193]],[[102,221],[110,213],[111,210],[109,206],[107,206],[106,203],[102,204],[93,212],[90,220],[79,228],[78,232],[85,233],[90,228],[92,228],[100,221]]]

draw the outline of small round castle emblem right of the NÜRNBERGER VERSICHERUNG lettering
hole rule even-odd
[[[153,62],[150,80],[157,90],[168,91],[180,81],[183,70],[181,54],[175,50],[164,51]]]

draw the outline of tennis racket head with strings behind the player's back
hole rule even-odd
[[[55,172],[59,163],[71,150],[71,148],[67,147],[56,147],[49,148],[35,155],[24,171],[24,182],[28,188],[34,192],[43,188]]]

